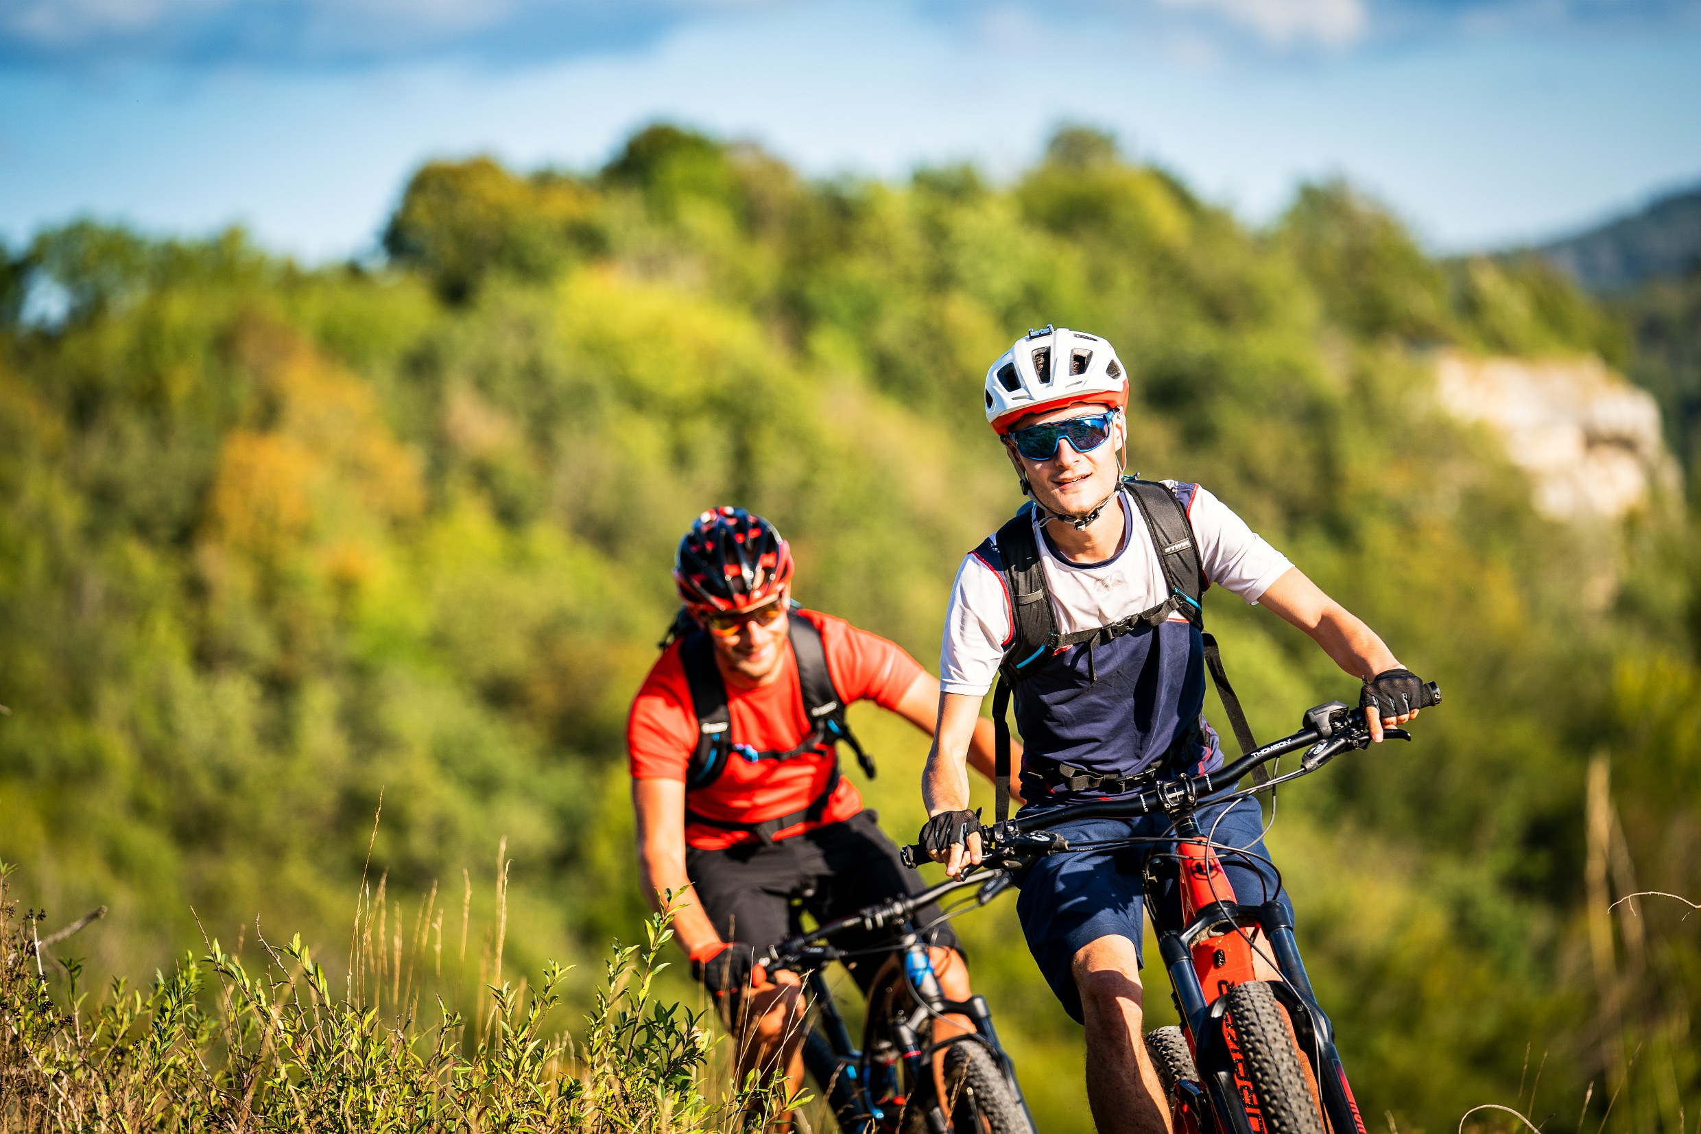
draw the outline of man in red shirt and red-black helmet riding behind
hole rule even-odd
[[[711,508],[696,519],[674,559],[677,641],[633,700],[626,748],[645,893],[657,908],[675,896],[674,930],[692,974],[740,1035],[740,1081],[750,1068],[781,1066],[796,1088],[803,989],[796,974],[769,979],[757,964],[791,935],[793,898],[827,921],[920,889],[839,774],[839,740],[873,774],[844,706],[873,700],[932,734],[939,682],[895,643],[793,605],[791,575],[791,547],[762,517]],[[963,745],[990,770],[990,721]],[[694,901],[679,899],[687,887]],[[919,921],[932,918],[934,908]],[[869,935],[869,945],[883,942]],[[949,925],[932,942],[946,996],[966,1000]],[[847,966],[864,991],[881,961],[874,952]]]

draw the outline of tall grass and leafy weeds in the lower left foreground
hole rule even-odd
[[[546,1027],[566,969],[546,966],[529,991],[500,979],[500,913],[480,1001],[427,1000],[422,961],[435,974],[442,962],[435,891],[405,927],[390,916],[383,879],[371,896],[362,886],[340,995],[298,935],[282,945],[262,937],[253,971],[211,940],[146,991],[119,979],[97,1005],[71,962],[60,1003],[36,944],[44,915],[19,910],[12,872],[0,864],[0,1134],[696,1134],[760,1127],[801,1102],[781,1078],[726,1083],[708,1013],[655,998],[668,915],[646,921],[641,944],[614,945],[575,1040]],[[463,925],[463,959],[464,940]]]

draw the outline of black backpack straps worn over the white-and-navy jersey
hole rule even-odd
[[[1000,823],[1010,814],[1010,724],[1005,714],[1015,683],[1026,680],[1051,655],[1080,644],[1087,646],[1087,672],[1092,680],[1097,680],[1092,660],[1095,644],[1109,643],[1141,627],[1155,627],[1169,621],[1172,614],[1182,614],[1199,629],[1204,641],[1206,668],[1223,699],[1223,709],[1228,711],[1228,721],[1242,751],[1252,751],[1257,746],[1252,740],[1252,729],[1247,726],[1247,716],[1240,709],[1240,699],[1228,683],[1216,638],[1204,632],[1204,607],[1199,605],[1199,600],[1208,583],[1199,559],[1199,542],[1192,534],[1192,520],[1187,519],[1187,510],[1177,496],[1175,481],[1141,481],[1128,476],[1123,479],[1123,488],[1133,496],[1135,507],[1152,534],[1152,546],[1157,547],[1163,580],[1169,585],[1169,597],[1150,610],[1090,631],[1058,632],[1051,588],[1046,587],[1039,541],[1034,534],[1033,503],[1024,503],[998,529],[997,536],[985,539],[975,549],[981,561],[1004,576],[1005,593],[1010,597],[1010,641],[1004,648],[998,683],[992,695],[993,784],[997,785],[997,819]],[[1067,768],[1068,765],[1060,767]],[[1262,767],[1254,772],[1255,782],[1264,784],[1267,779],[1269,774]]]

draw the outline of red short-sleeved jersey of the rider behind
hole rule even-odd
[[[922,673],[922,666],[902,646],[859,631],[844,619],[816,610],[793,610],[791,617],[806,617],[822,631],[827,673],[845,704],[873,700],[883,709],[895,709]],[[760,689],[740,689],[723,675],[723,683],[733,743],[750,745],[757,751],[788,751],[810,734],[791,643],[786,643],[776,680]],[[691,707],[691,683],[675,641],[650,666],[650,675],[633,699],[631,716],[626,717],[626,755],[633,779],[684,782],[696,750],[697,716]],[[720,779],[692,791],[686,804],[711,819],[764,823],[808,808],[827,789],[832,767],[833,757],[825,751],[754,763],[733,757]],[[862,796],[847,777],[840,777],[818,823],[796,823],[777,831],[776,838],[799,835],[823,823],[840,823],[861,809]],[[731,847],[748,838],[755,836],[706,823],[686,823],[686,842],[704,850]]]

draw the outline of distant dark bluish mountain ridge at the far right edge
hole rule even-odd
[[[1701,264],[1701,185],[1536,252],[1594,294],[1681,277]]]

